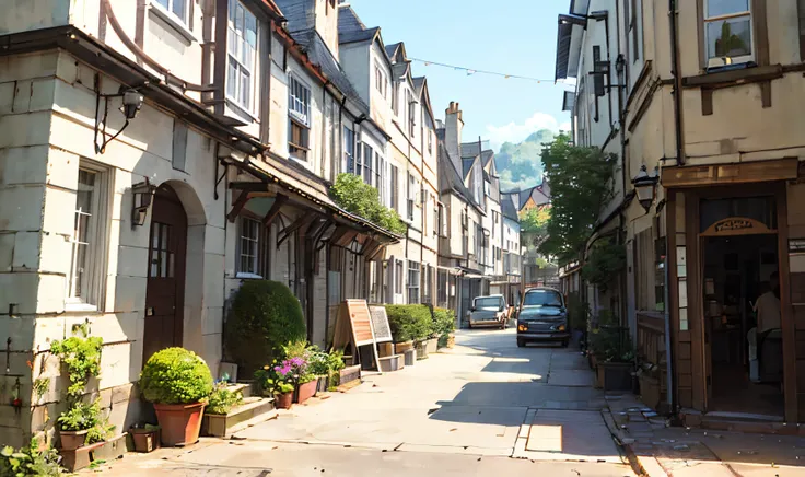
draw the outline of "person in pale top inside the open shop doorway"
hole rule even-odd
[[[749,330],[749,379],[752,382],[761,380],[763,342],[772,333],[779,334],[781,323],[780,311],[780,275],[771,274],[768,283],[763,283],[763,293],[751,304],[757,316],[757,326]]]

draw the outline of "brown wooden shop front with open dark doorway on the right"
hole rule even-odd
[[[800,170],[785,159],[664,171],[675,404],[690,424],[805,421]]]

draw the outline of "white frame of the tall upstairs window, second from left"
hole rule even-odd
[[[170,0],[173,1],[173,0]],[[187,0],[192,1],[192,0]],[[242,33],[241,35],[237,34],[237,26],[234,25],[236,13],[233,13],[233,11],[236,11],[237,8],[243,9],[244,15],[243,15],[243,25],[242,25]],[[254,19],[254,26],[255,26],[255,44],[250,45],[248,40],[245,37],[246,32],[246,25],[247,25],[247,18],[250,16]],[[248,45],[252,48],[250,55],[250,62],[252,65],[246,65],[243,61],[243,58],[240,58],[240,55],[242,53],[237,53],[237,56],[235,53],[233,53],[233,48],[235,47],[233,45],[233,40],[238,39],[240,42],[236,42],[237,47],[244,47]],[[224,88],[224,94],[226,96],[226,100],[234,104],[235,106],[242,108],[243,110],[254,114],[255,113],[255,84],[256,84],[256,72],[257,72],[257,55],[258,55],[258,45],[260,44],[260,25],[257,20],[257,15],[255,15],[252,10],[249,10],[242,1],[240,0],[229,0],[228,2],[228,15],[226,15],[226,86]],[[234,94],[230,93],[230,70],[232,69],[232,61],[234,60],[236,66],[236,81],[235,81],[235,92]],[[243,71],[248,74],[248,97],[247,103],[245,104],[243,102]]]

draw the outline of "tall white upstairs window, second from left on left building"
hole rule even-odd
[[[236,0],[230,0],[229,11],[226,96],[250,112],[253,109],[253,71],[257,49],[257,19]]]

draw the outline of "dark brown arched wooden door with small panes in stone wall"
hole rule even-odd
[[[143,364],[154,352],[182,346],[187,214],[167,185],[156,189],[151,218]]]

